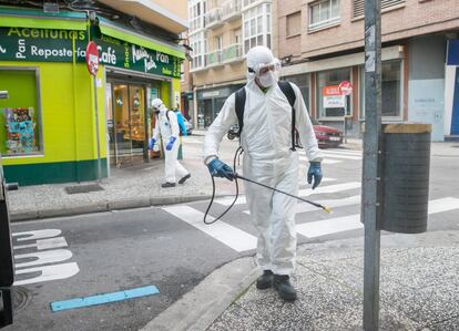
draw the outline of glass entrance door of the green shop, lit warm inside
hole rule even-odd
[[[112,83],[111,103],[110,165],[142,163],[146,157],[145,87]]]

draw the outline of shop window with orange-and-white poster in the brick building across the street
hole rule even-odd
[[[338,86],[343,81],[350,82],[350,68],[335,69],[317,73],[317,113],[320,120],[336,120],[351,115],[351,96],[339,95]]]

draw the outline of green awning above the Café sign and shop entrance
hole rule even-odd
[[[99,28],[102,34],[124,40],[133,44],[144,46],[154,51],[159,51],[169,55],[173,55],[180,59],[185,59],[185,52],[181,50],[178,45],[167,44],[160,40],[154,40],[146,35],[139,34],[134,31],[123,29],[121,27],[112,24],[110,21],[99,18]]]

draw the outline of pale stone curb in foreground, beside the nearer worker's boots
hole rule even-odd
[[[141,331],[206,330],[259,276],[253,257],[214,270]]]

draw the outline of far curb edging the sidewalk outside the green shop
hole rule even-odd
[[[224,195],[223,195],[224,196]],[[216,197],[223,197],[216,196]],[[93,203],[74,207],[59,207],[43,210],[20,210],[10,213],[11,221],[35,220],[51,217],[75,216],[93,213],[104,213],[122,209],[145,208],[163,205],[176,205],[184,203],[194,203],[211,199],[211,195],[198,196],[171,196],[171,197],[151,197],[137,199],[111,200],[104,203]]]

